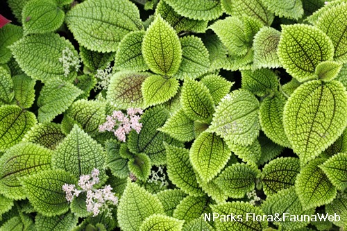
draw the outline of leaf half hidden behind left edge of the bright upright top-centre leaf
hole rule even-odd
[[[149,67],[142,56],[144,31],[132,31],[119,42],[115,65],[119,70],[146,71]]]

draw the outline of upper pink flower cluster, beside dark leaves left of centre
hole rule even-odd
[[[126,134],[131,130],[135,130],[137,133],[142,128],[142,123],[139,123],[139,115],[143,111],[139,108],[129,108],[126,110],[126,114],[121,111],[113,111],[112,116],[106,117],[106,122],[99,126],[99,131],[114,132],[119,141],[126,142]],[[115,129],[117,127],[117,129]]]

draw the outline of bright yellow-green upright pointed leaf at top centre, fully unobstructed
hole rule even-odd
[[[176,31],[162,17],[155,17],[142,42],[142,55],[151,71],[173,76],[180,67],[182,48]]]

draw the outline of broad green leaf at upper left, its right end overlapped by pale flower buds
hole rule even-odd
[[[10,49],[19,64],[19,67],[31,78],[42,80],[71,79],[76,71],[71,71],[67,78],[62,62],[62,51],[69,49],[78,57],[74,46],[65,38],[55,33],[35,34],[23,37],[15,42]]]

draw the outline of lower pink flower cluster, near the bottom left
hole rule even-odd
[[[112,193],[112,187],[106,185],[101,189],[94,189],[94,185],[99,183],[99,170],[93,169],[90,175],[82,175],[78,180],[78,186],[81,190],[76,189],[76,185],[65,184],[62,190],[65,191],[65,198],[71,202],[74,196],[78,197],[82,192],[87,193],[87,212],[93,212],[93,216],[97,216],[101,210],[108,210],[108,203],[118,204],[118,198]]]

